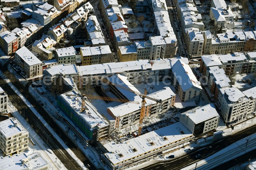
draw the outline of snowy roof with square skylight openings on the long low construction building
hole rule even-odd
[[[122,161],[132,159],[133,157],[192,136],[193,134],[178,122],[148,132],[139,137],[129,139],[124,143],[115,143],[114,141],[111,141],[104,144],[103,147],[108,151],[108,153],[105,153],[105,156],[111,163],[118,164]]]

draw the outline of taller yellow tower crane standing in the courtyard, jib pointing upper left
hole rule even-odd
[[[131,90],[127,87],[124,87],[124,86],[121,86],[120,84],[116,84],[116,83],[112,83],[110,82],[108,79],[101,79],[103,82],[107,83],[107,84],[111,84],[112,86],[115,86],[115,87],[119,87],[121,89],[124,89],[124,90],[127,90],[127,91],[130,91],[138,96],[140,96],[142,98],[142,102],[141,102],[141,113],[140,113],[140,119],[139,119],[139,128],[138,128],[138,136],[141,135],[141,129],[142,129],[142,121],[143,121],[143,118],[144,118],[144,113],[145,113],[145,104],[146,104],[146,98],[147,99],[150,99],[150,100],[153,100],[157,103],[162,103],[162,100],[161,99],[154,99],[154,98],[151,98],[149,96],[147,96],[147,89],[144,89],[144,93],[140,93],[140,92],[137,92],[137,91],[134,91],[134,90]]]

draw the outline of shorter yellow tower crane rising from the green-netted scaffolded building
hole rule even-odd
[[[101,97],[101,96],[96,96],[96,95],[86,95],[86,94],[82,94],[82,95],[78,95],[78,94],[66,94],[66,96],[75,96],[75,97],[80,97],[82,99],[81,101],[81,109],[80,112],[83,112],[85,110],[85,99],[86,98],[90,98],[90,99],[101,99],[101,100],[108,100],[108,101],[114,101],[114,102],[123,102],[123,103],[135,103],[135,104],[139,104],[140,102],[137,101],[130,101],[130,100],[126,100],[126,99],[118,99],[118,98],[109,98],[109,97]]]

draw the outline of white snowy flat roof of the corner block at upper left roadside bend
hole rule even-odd
[[[42,64],[42,62],[29,51],[25,46],[16,51],[16,54],[29,66]]]

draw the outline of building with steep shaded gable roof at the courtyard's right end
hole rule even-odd
[[[178,60],[171,69],[170,80],[182,102],[197,101],[202,87],[189,65]]]

